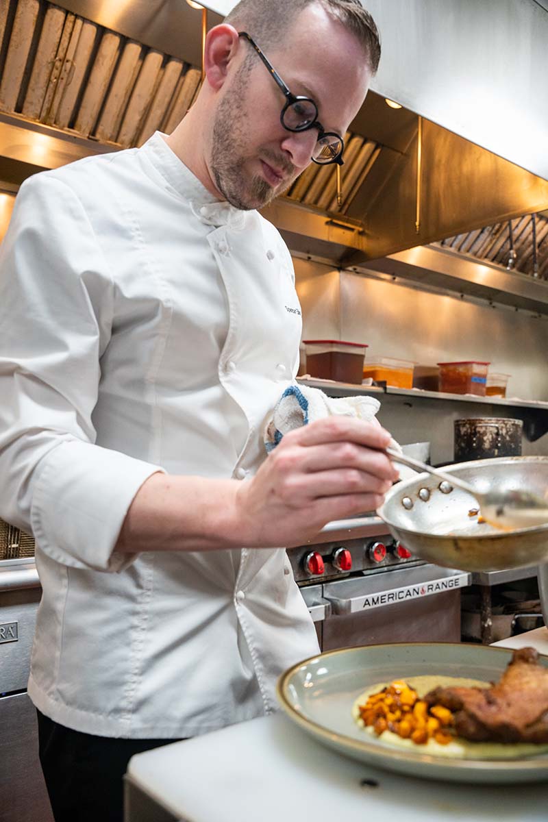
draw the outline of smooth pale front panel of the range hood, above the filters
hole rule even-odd
[[[361,2],[382,40],[374,91],[548,179],[548,0]]]

